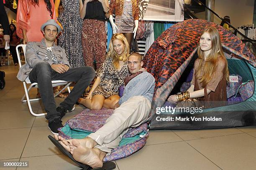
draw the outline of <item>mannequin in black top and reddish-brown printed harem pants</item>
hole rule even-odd
[[[109,18],[108,0],[80,0],[82,10],[80,17],[84,20],[82,27],[82,47],[85,65],[100,69],[106,54],[105,19]]]

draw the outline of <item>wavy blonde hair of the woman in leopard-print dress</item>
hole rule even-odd
[[[109,43],[107,57],[112,57],[113,58],[113,65],[114,65],[115,69],[118,69],[119,68],[119,60],[118,60],[119,55],[114,50],[113,40],[120,40],[125,45],[125,49],[123,51],[123,61],[128,60],[130,47],[129,47],[129,44],[128,44],[128,41],[127,41],[126,37],[122,33],[113,34],[113,36],[110,40],[110,43]]]

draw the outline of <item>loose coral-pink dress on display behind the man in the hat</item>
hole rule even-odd
[[[44,37],[41,25],[49,19],[56,19],[54,0],[51,2],[51,13],[47,10],[44,0],[38,0],[38,5],[33,5],[31,0],[19,0],[17,9],[17,35],[23,39],[22,30],[26,30],[28,41],[40,42]]]

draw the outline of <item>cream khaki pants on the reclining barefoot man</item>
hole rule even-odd
[[[151,102],[143,96],[131,97],[114,110],[99,130],[88,137],[97,142],[99,148],[108,154],[118,147],[123,135],[132,127],[138,127],[148,120]]]

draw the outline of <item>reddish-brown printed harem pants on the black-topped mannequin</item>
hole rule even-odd
[[[100,69],[105,60],[107,35],[105,22],[100,20],[85,19],[82,28],[82,46],[85,65]]]

